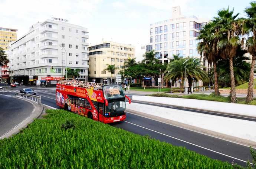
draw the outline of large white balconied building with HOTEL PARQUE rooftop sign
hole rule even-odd
[[[52,18],[37,22],[17,41],[9,45],[9,73],[12,81],[33,83],[41,80],[56,84],[65,75],[65,67],[80,69],[79,80],[88,80],[88,30],[68,20]],[[63,46],[63,47],[62,47]],[[62,67],[63,66],[63,67]]]

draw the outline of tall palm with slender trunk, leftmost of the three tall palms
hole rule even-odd
[[[219,83],[217,74],[217,61],[220,59],[217,42],[218,36],[216,36],[218,29],[214,28],[216,20],[204,25],[203,29],[200,30],[200,35],[197,39],[201,40],[198,43],[197,50],[201,57],[204,57],[208,61],[208,65],[213,63],[214,72],[214,94],[219,95]]]

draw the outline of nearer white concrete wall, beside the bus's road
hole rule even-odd
[[[162,98],[163,99],[163,98]],[[180,123],[179,126],[217,137],[256,146],[256,122],[177,110],[145,104],[127,104],[127,111],[137,111]],[[176,123],[177,124],[177,123]],[[188,127],[189,126],[189,127]],[[194,128],[191,128],[194,127]]]

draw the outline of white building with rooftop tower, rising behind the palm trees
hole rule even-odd
[[[200,57],[197,52],[199,31],[209,20],[181,15],[180,7],[173,7],[172,18],[150,24],[149,44],[146,51],[158,52],[156,58],[163,63],[180,54],[180,57]]]

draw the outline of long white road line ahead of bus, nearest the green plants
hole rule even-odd
[[[217,154],[220,154],[220,155],[223,155],[223,156],[227,156],[227,157],[229,157],[229,158],[233,158],[233,159],[236,159],[236,160],[239,160],[239,161],[242,161],[242,162],[247,163],[247,161],[241,160],[241,159],[239,159],[239,158],[235,158],[235,157],[232,157],[232,156],[229,156],[229,155],[226,155],[226,154],[223,154],[223,153],[220,153],[220,152],[211,150],[211,149],[209,149],[209,148],[205,148],[205,147],[202,147],[202,146],[200,146],[200,145],[196,145],[196,144],[193,144],[193,143],[184,141],[184,140],[182,140],[182,139],[179,139],[179,138],[176,138],[176,137],[172,137],[172,136],[170,136],[170,135],[163,134],[163,133],[158,132],[158,131],[155,131],[155,130],[151,130],[151,129],[146,128],[146,127],[142,127],[141,125],[137,125],[137,124],[131,123],[131,122],[129,122],[129,121],[124,121],[124,122],[129,123],[129,124],[132,124],[132,125],[136,125],[136,126],[138,126],[138,127],[141,127],[141,128],[144,128],[144,129],[147,129],[147,130],[156,132],[156,133],[158,133],[158,134],[162,134],[162,135],[164,135],[164,136],[167,136],[167,137],[170,137],[170,138],[173,138],[173,139],[177,139],[177,140],[182,141],[182,142],[185,142],[185,143],[187,143],[187,144],[191,144],[191,145],[197,146],[197,147],[199,147],[199,148],[203,148],[203,149],[206,149],[206,150],[208,150],[208,151],[215,152],[215,153],[217,153]],[[251,164],[252,164],[252,163],[251,163]]]

